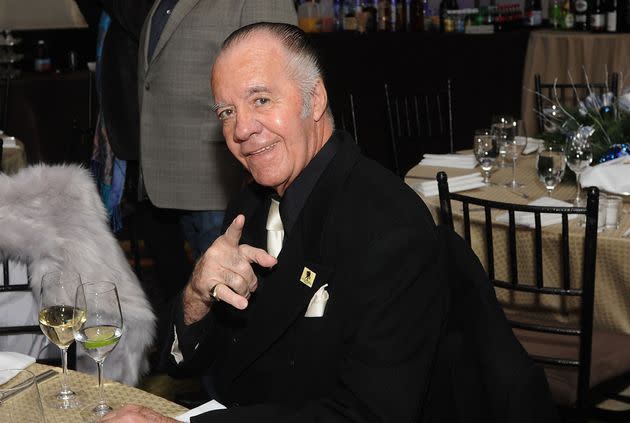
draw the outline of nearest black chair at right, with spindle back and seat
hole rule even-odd
[[[518,313],[508,314],[513,331],[532,359],[544,367],[552,395],[558,405],[563,407],[569,417],[585,418],[587,411],[595,410],[608,382],[630,372],[630,336],[604,333],[593,330],[593,303],[595,292],[595,258],[597,250],[597,216],[599,191],[595,187],[588,190],[586,207],[540,207],[482,200],[462,194],[449,192],[447,176],[444,172],[437,175],[440,194],[440,218],[443,224],[454,227],[452,201],[461,203],[463,210],[464,238],[471,245],[471,206],[482,208],[475,213],[483,213],[482,227],[485,242],[485,268],[495,289],[507,290],[510,295],[531,295],[533,304],[543,296],[556,298],[575,298],[579,307],[577,327],[563,325],[543,319],[536,309],[520,309]],[[493,211],[507,213],[507,227],[493,222]],[[517,246],[516,213],[533,213],[533,267],[535,280],[526,281],[519,277],[519,258],[522,252]],[[543,234],[541,216],[555,214],[561,219],[560,268],[562,280],[547,280],[543,262]],[[583,233],[569,233],[569,215],[584,216]],[[495,237],[499,232],[507,232],[507,260],[509,277],[505,280],[497,277],[494,259]],[[532,232],[530,229],[524,231]],[[569,263],[569,237],[582,236],[583,259],[580,275],[571,275]],[[529,250],[531,247],[528,246]],[[531,254],[531,251],[530,251]],[[576,277],[577,276],[577,277]],[[579,282],[581,281],[581,283]],[[562,300],[559,301],[562,304]],[[529,313],[528,313],[529,312]],[[547,312],[547,311],[546,311]],[[597,409],[597,412],[603,412]],[[628,414],[623,415],[628,418]]]

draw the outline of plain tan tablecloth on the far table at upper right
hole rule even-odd
[[[602,82],[611,72],[620,73],[619,88],[624,79],[630,82],[630,34],[591,34],[571,31],[534,31],[529,37],[525,69],[523,71],[523,97],[521,114],[529,134],[535,134],[534,75],[540,74],[543,82],[569,82],[571,72],[574,82]]]

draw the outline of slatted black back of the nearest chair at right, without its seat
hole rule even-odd
[[[530,356],[534,361],[541,363],[546,369],[549,366],[556,368],[572,368],[577,371],[577,393],[575,406],[580,408],[586,404],[586,398],[590,386],[591,369],[591,348],[593,333],[593,299],[595,289],[595,258],[597,248],[597,216],[599,204],[599,190],[595,187],[588,189],[586,207],[542,207],[503,203],[497,201],[483,200],[463,194],[451,193],[448,188],[448,178],[446,173],[439,172],[437,175],[438,190],[440,194],[440,218],[443,224],[454,227],[452,202],[457,201],[462,205],[464,238],[468,245],[471,245],[471,206],[481,208],[483,212],[483,228],[486,263],[485,269],[494,285],[495,289],[505,289],[510,295],[532,295],[532,296],[555,296],[574,297],[578,299],[579,324],[577,327],[541,321],[538,317],[528,315],[527,310],[519,310],[518,315],[508,314],[512,328],[517,337],[523,339],[531,334],[535,336],[558,336],[570,337],[577,340],[577,357],[556,356],[551,351],[532,353]],[[493,211],[507,213],[508,225],[493,222]],[[477,213],[478,210],[475,211]],[[523,251],[517,248],[516,213],[532,213],[534,215],[535,226],[533,228],[533,281],[523,280],[519,275],[519,259],[522,258]],[[547,280],[544,278],[543,263],[543,234],[541,216],[547,214],[558,215],[561,219],[560,234],[560,268],[562,269],[562,280]],[[581,284],[579,277],[571,275],[569,263],[569,237],[576,236],[573,231],[569,233],[569,215],[584,216],[584,246],[581,272]],[[498,226],[502,226],[499,228]],[[497,276],[494,250],[494,236],[499,230],[507,230],[507,261],[508,277],[500,279]],[[526,229],[526,231],[530,231]],[[531,231],[530,231],[531,232]],[[519,254],[521,253],[521,254]],[[534,313],[535,311],[532,310]],[[549,373],[548,373],[549,374]]]

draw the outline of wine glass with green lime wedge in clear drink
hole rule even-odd
[[[75,328],[74,339],[83,346],[98,367],[98,396],[96,405],[86,407],[81,415],[88,421],[98,421],[113,407],[105,402],[103,391],[103,362],[112,352],[123,329],[122,311],[116,285],[112,282],[92,282],[76,290],[74,309],[83,312],[85,319]]]

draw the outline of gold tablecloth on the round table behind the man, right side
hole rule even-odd
[[[529,199],[513,193],[502,186],[483,187],[464,192],[478,198],[489,200],[527,203],[545,195],[541,182],[538,181],[535,169],[535,155],[524,156],[517,165],[516,178],[525,184],[519,189]],[[413,187],[418,182],[435,180],[435,174],[444,170],[450,177],[478,171],[477,169],[448,169],[426,166],[416,166],[407,174],[406,182]],[[503,183],[511,180],[512,169],[504,168],[496,171],[492,181]],[[586,195],[586,193],[584,193]],[[561,183],[553,193],[553,197],[565,201],[571,201],[575,196],[573,182]],[[627,201],[628,199],[626,199]],[[439,210],[438,196],[424,198],[429,206],[434,219],[437,220]],[[453,203],[453,214],[456,230],[463,233],[461,207]],[[602,330],[610,330],[630,334],[630,238],[622,237],[623,233],[630,229],[630,204],[624,203],[624,213],[618,229],[605,230],[598,234],[597,261],[595,275],[595,310],[594,326]],[[472,248],[479,256],[481,262],[486,265],[485,240],[482,233],[483,212],[479,209],[471,211]],[[570,271],[572,277],[581,275],[583,255],[584,230],[580,228],[577,220],[570,221]],[[494,225],[494,263],[497,278],[510,280],[508,276],[509,252],[507,250],[507,225]],[[560,265],[560,225],[552,225],[543,228],[543,277],[545,281],[561,281]],[[517,229],[517,257],[518,274],[521,281],[534,281],[534,231],[529,228]],[[580,279],[578,278],[578,285]],[[536,308],[544,314],[545,318],[553,318],[555,321],[574,325],[577,322],[578,313],[575,299],[565,299],[562,302],[552,299],[550,296],[533,299],[530,294],[507,294],[502,289],[496,289],[497,297],[502,303],[507,314],[518,313],[523,308]],[[560,310],[559,312],[557,310]]]

